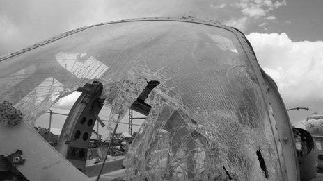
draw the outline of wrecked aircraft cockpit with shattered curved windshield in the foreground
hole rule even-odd
[[[74,91],[54,148],[34,123]],[[0,58],[0,104],[4,179],[308,179],[276,84],[244,34],[216,21],[111,21],[34,44]],[[110,131],[129,109],[147,118],[125,157],[87,166],[102,106]]]

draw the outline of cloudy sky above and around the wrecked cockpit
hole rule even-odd
[[[289,112],[294,125],[301,126],[313,112],[323,113],[322,0],[1,0],[0,56],[81,26],[188,15],[223,22],[246,35],[286,107],[310,107]]]

